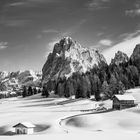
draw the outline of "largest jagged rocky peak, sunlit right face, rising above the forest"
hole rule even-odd
[[[68,79],[73,73],[86,73],[95,66],[106,63],[105,58],[98,50],[81,47],[70,37],[65,37],[54,45],[53,52],[42,69],[43,84],[58,78]]]

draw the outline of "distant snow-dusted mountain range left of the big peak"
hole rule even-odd
[[[14,90],[22,86],[39,86],[41,84],[41,72],[32,70],[17,72],[0,72],[0,90]]]

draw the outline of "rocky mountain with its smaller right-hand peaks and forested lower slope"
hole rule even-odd
[[[116,52],[112,63],[95,49],[82,47],[70,37],[62,38],[54,45],[42,69],[42,86],[45,91],[65,97],[96,100],[123,94],[124,89],[140,85],[140,45],[132,57]],[[135,58],[135,59],[133,59]],[[138,63],[139,64],[139,63]]]

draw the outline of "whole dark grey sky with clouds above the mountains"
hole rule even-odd
[[[53,45],[70,36],[108,62],[140,43],[140,0],[0,0],[0,71],[41,71]]]

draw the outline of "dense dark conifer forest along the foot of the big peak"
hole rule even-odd
[[[112,99],[115,94],[123,94],[124,90],[139,86],[139,73],[137,64],[131,59],[119,65],[104,63],[86,73],[73,73],[68,79],[49,81],[43,87],[43,94],[48,97],[49,91],[53,90],[60,97],[90,98],[94,95],[97,101]]]

